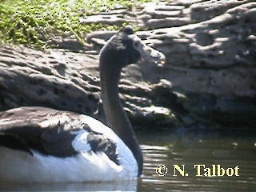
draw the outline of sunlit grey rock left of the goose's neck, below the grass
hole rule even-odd
[[[59,50],[43,53],[22,46],[2,46],[0,110],[18,106],[49,106],[92,113],[97,108],[99,81],[91,74],[85,74],[81,62],[88,63],[90,68],[95,58]]]

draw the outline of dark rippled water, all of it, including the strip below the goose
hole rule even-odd
[[[51,190],[51,191],[90,191],[90,190],[130,190],[130,191],[256,191],[256,136],[244,132],[228,134],[200,131],[178,130],[156,134],[139,134],[144,154],[144,174],[142,178],[130,182],[103,183],[54,183],[40,185],[9,185],[0,184],[3,190]],[[222,168],[232,168],[233,176],[197,177],[194,165],[220,165]],[[158,176],[156,168],[159,165],[167,167],[165,176]],[[182,169],[182,176],[174,166]],[[238,175],[235,176],[235,167]],[[162,170],[163,171],[163,170]],[[204,174],[201,169],[200,174]],[[230,169],[228,172],[232,174]],[[216,171],[217,174],[217,171]]]

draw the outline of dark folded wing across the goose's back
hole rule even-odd
[[[71,143],[72,123],[79,114],[44,107],[20,107],[0,113],[0,146],[68,157],[77,154]]]

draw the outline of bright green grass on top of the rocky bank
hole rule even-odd
[[[142,2],[149,1],[0,0],[0,42],[43,49],[54,46],[56,37],[75,35],[84,43],[83,35],[90,31],[117,30],[119,26],[81,25],[79,20],[83,16],[108,11],[117,5],[131,9]]]

